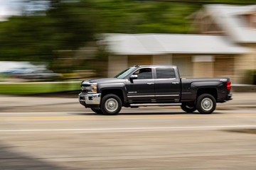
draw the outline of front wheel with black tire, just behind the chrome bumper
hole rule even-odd
[[[122,101],[115,94],[107,94],[100,102],[100,108],[105,115],[117,115],[122,108]]]

